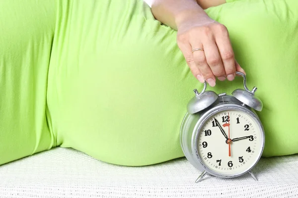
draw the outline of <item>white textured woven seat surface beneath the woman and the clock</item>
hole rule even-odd
[[[261,159],[249,175],[206,176],[185,158],[146,167],[107,164],[54,148],[0,166],[0,198],[298,198],[298,155]]]

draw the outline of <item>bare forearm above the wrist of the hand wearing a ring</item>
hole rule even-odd
[[[151,11],[157,20],[175,30],[188,15],[207,16],[196,0],[153,0]]]

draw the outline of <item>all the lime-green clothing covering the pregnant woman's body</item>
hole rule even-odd
[[[259,88],[264,156],[298,153],[298,1],[206,11]],[[0,33],[0,164],[55,146],[122,165],[183,156],[180,125],[202,84],[142,0],[0,0]]]

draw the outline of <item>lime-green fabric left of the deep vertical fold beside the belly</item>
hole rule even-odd
[[[50,149],[46,95],[52,0],[0,0],[0,164]]]

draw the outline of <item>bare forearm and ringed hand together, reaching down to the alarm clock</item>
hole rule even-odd
[[[193,75],[214,87],[216,78],[233,80],[245,71],[234,59],[226,27],[211,19],[203,8],[225,0],[153,0],[154,17],[177,30],[177,44]],[[201,6],[203,7],[201,7]],[[196,49],[196,50],[193,50]]]

